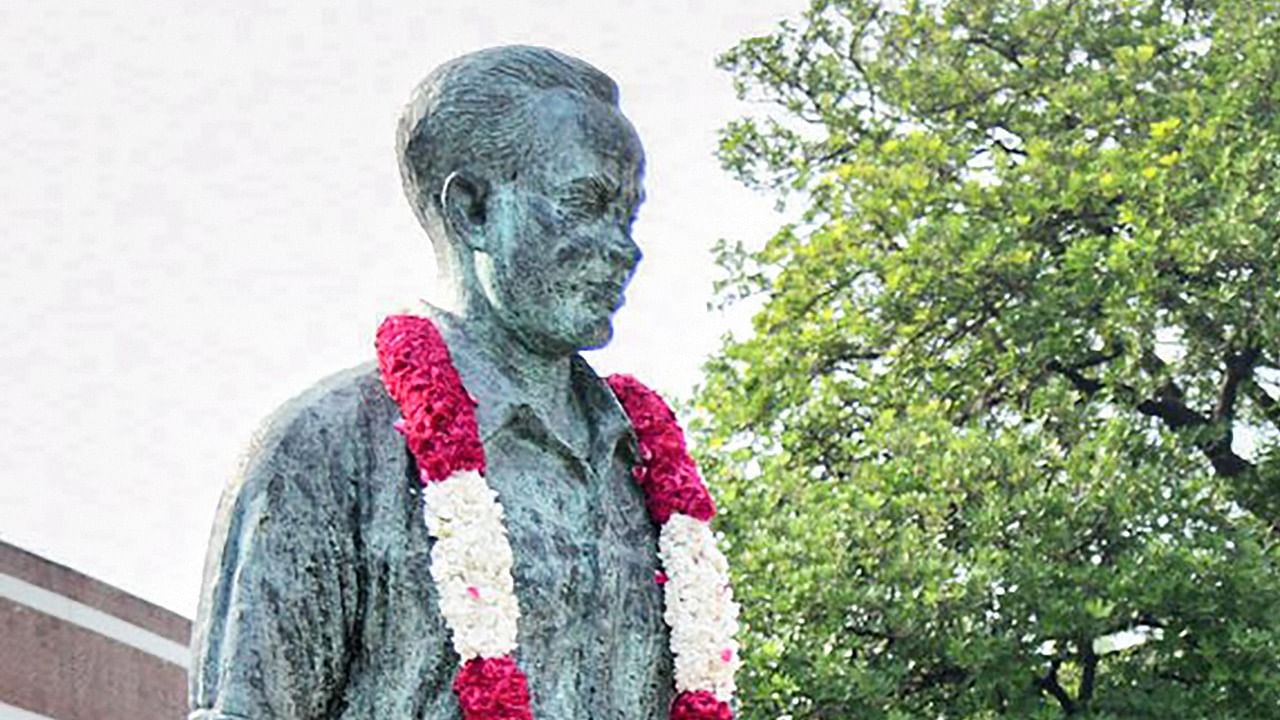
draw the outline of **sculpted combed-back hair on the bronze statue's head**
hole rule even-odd
[[[492,47],[451,60],[413,91],[396,133],[401,179],[419,220],[440,211],[457,170],[494,179],[527,161],[529,101],[562,90],[618,105],[618,86],[594,67],[545,47]],[[431,238],[433,241],[443,238]]]

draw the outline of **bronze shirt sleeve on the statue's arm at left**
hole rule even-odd
[[[358,473],[340,414],[287,406],[223,496],[192,637],[191,720],[320,720],[360,616]]]

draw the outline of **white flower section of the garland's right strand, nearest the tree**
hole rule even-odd
[[[728,561],[710,525],[678,512],[662,527],[658,555],[667,573],[663,618],[671,626],[676,691],[710,691],[728,701],[740,665]]]

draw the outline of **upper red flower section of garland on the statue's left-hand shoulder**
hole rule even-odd
[[[378,369],[401,407],[396,429],[417,460],[422,482],[458,470],[484,473],[475,400],[462,387],[449,348],[426,318],[392,315],[378,328]]]

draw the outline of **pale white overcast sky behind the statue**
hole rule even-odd
[[[773,199],[714,159],[753,106],[714,56],[801,0],[0,4],[0,539],[193,616],[261,420],[430,295],[394,128],[435,65],[535,44],[611,74],[648,158],[645,252],[589,356],[682,396],[742,310],[717,238]]]

